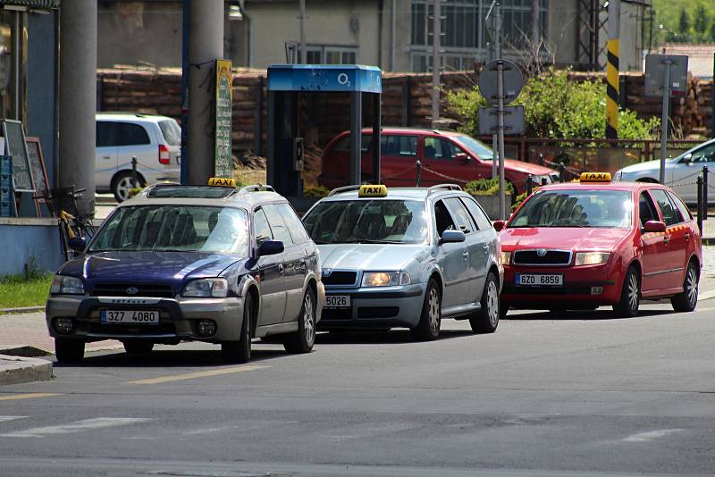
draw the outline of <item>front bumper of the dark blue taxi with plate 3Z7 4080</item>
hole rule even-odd
[[[132,303],[133,301],[133,303]],[[103,323],[101,310],[158,310],[158,324]],[[220,342],[237,340],[243,321],[243,298],[153,298],[88,297],[58,295],[49,297],[45,308],[50,336],[99,341],[102,339],[150,339],[155,342]],[[72,330],[63,334],[55,329],[57,317],[72,318]],[[199,320],[213,320],[211,336],[198,333]]]

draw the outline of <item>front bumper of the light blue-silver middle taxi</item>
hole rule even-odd
[[[326,289],[327,296],[348,295],[350,306],[323,308],[319,330],[414,328],[422,314],[426,283],[385,289]]]

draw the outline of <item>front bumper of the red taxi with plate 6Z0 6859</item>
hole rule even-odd
[[[563,286],[517,286],[517,273],[563,274]],[[504,266],[504,286],[501,301],[517,307],[552,308],[569,306],[574,308],[598,305],[615,305],[620,298],[623,278],[609,264],[540,267]],[[594,293],[597,289],[601,293]]]

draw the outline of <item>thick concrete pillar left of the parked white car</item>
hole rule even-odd
[[[60,138],[58,185],[86,188],[95,202],[97,0],[64,0],[60,8]]]

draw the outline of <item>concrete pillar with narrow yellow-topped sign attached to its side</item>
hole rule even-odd
[[[223,0],[189,0],[189,184],[214,175],[214,60],[223,58]]]

